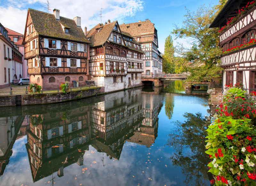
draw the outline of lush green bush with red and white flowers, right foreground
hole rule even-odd
[[[214,185],[256,184],[256,99],[242,84],[227,86],[216,109],[213,123],[207,128],[205,153],[214,175]]]

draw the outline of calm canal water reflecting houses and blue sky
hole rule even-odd
[[[0,108],[0,185],[210,185],[208,109],[179,80]]]

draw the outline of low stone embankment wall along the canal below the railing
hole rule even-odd
[[[96,94],[103,94],[105,92],[104,87],[78,90],[68,94],[63,93],[44,93],[44,94],[25,94],[21,95],[21,105],[37,105],[37,104],[48,104],[48,103],[59,103],[70,100],[77,100],[94,96]],[[4,106],[15,106],[17,105],[17,96],[0,96],[0,107]]]

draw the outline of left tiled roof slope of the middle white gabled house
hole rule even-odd
[[[117,21],[113,21],[112,23],[108,23],[107,25],[98,24],[94,26],[91,30],[89,30],[87,34],[87,39],[90,38],[91,45],[90,46],[99,46],[103,45],[113,30]],[[101,28],[100,32],[97,32],[97,29]]]

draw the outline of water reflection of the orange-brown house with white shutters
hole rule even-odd
[[[30,116],[26,148],[34,182],[56,171],[63,176],[70,164],[83,165],[88,145],[82,144],[90,139],[88,116],[88,107]]]

